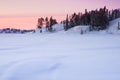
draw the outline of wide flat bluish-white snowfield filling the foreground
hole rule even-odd
[[[0,80],[120,80],[120,34],[0,34]]]

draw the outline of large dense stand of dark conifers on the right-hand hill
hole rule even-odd
[[[104,30],[109,25],[109,21],[120,17],[120,10],[115,9],[109,11],[106,6],[100,8],[99,10],[87,11],[85,13],[74,13],[70,16],[66,16],[66,20],[62,23],[65,24],[64,29],[68,30],[77,25],[89,25],[90,30]]]

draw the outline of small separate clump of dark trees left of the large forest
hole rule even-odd
[[[46,27],[46,31],[52,32],[54,31],[52,26],[54,24],[57,24],[56,19],[53,19],[52,16],[50,17],[50,19],[48,17],[44,18],[38,18],[38,24],[37,27],[40,29],[40,33],[42,32],[42,27],[43,25],[45,25]]]

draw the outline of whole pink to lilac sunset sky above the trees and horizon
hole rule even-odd
[[[34,28],[39,16],[63,19],[67,13],[84,12],[85,8],[120,8],[119,3],[120,0],[0,0],[0,28]]]

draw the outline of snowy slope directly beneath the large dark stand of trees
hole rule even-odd
[[[108,26],[108,29],[107,30],[102,30],[102,31],[93,31],[93,32],[89,32],[89,26],[75,26],[71,29],[69,29],[66,33],[81,33],[81,30],[84,32],[84,33],[88,33],[89,34],[118,34],[120,33],[120,30],[118,30],[118,22],[120,22],[120,18],[117,18],[113,21],[110,21],[109,22],[109,26]]]

